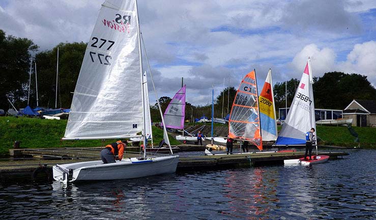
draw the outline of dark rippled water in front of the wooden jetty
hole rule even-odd
[[[375,150],[265,166],[72,184],[0,185],[0,219],[376,219]]]

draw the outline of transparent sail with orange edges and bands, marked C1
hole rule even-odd
[[[253,70],[240,82],[228,119],[228,136],[244,139],[263,150],[257,100],[257,81]]]

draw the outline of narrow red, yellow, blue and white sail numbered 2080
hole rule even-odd
[[[263,141],[275,141],[277,139],[277,117],[275,115],[275,102],[273,93],[272,70],[269,69],[263,90],[258,97],[260,110],[261,130]]]

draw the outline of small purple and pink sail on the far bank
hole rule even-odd
[[[184,85],[171,99],[163,114],[164,125],[167,128],[183,129],[185,117],[185,89]]]

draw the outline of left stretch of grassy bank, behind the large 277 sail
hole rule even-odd
[[[56,147],[100,147],[114,140],[61,141],[67,120],[47,120],[26,117],[0,117],[0,156],[9,155],[15,141],[21,141],[21,148],[56,148]],[[154,144],[163,138],[163,131],[153,127]],[[170,137],[171,145],[180,144]]]

